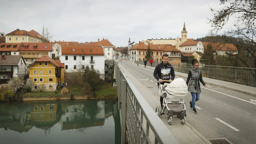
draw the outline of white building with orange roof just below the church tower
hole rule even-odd
[[[180,44],[180,51],[181,52],[202,52],[204,53],[204,45],[201,41],[193,41],[193,42],[184,42]]]

